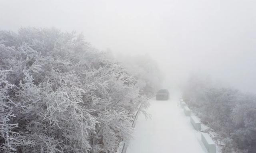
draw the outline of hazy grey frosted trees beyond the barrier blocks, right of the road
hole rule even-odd
[[[183,95],[202,122],[218,133],[224,153],[256,153],[256,94],[212,86],[193,76]]]

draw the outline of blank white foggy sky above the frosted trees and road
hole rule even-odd
[[[256,92],[256,0],[0,0],[0,29],[26,26],[83,32],[100,50],[148,53],[172,81],[194,71]]]

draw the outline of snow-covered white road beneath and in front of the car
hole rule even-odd
[[[126,153],[205,153],[200,133],[190,124],[179,105],[179,93],[168,101],[150,100],[151,119],[138,117],[134,138]]]

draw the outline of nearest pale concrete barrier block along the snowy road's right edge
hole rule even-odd
[[[216,153],[216,145],[208,133],[202,133],[201,139],[208,153]]]

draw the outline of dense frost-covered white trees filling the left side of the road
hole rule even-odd
[[[75,32],[0,31],[0,152],[114,153],[161,84],[150,57],[137,61],[110,60]]]

